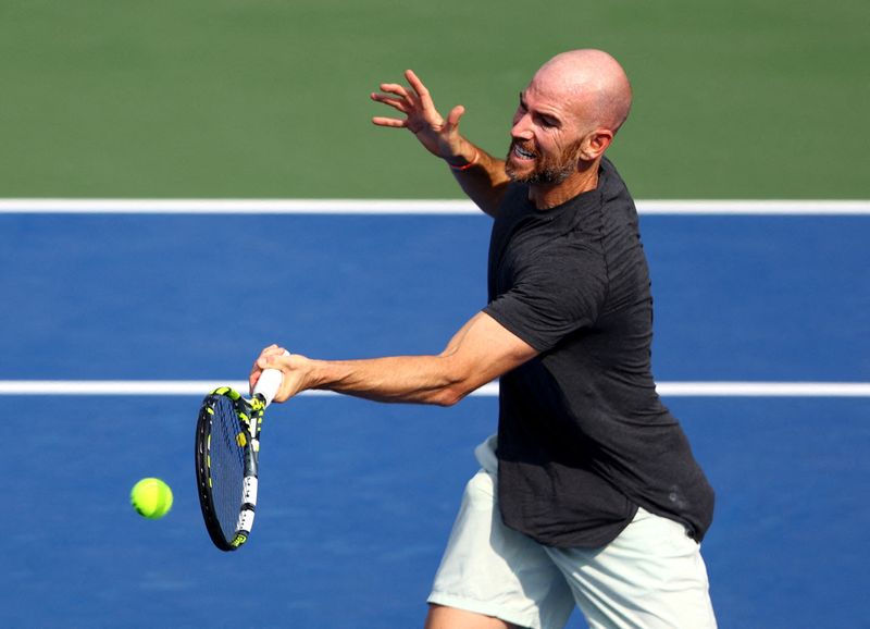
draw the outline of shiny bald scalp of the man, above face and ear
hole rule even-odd
[[[566,99],[584,126],[616,133],[632,106],[632,87],[619,62],[601,50],[571,50],[557,54],[535,73],[532,84]]]

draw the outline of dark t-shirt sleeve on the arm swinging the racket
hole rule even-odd
[[[595,252],[551,251],[518,270],[513,287],[484,312],[537,351],[595,323],[607,293],[607,273]]]

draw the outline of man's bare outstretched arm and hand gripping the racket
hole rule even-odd
[[[257,359],[250,382],[253,386],[263,369],[281,369],[284,382],[276,402],[316,388],[377,402],[450,406],[536,355],[495,319],[478,312],[437,356],[314,360],[286,355],[272,345]]]

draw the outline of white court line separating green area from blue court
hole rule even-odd
[[[642,214],[870,215],[870,200],[638,200]],[[428,199],[0,199],[0,214],[478,215],[469,200]]]

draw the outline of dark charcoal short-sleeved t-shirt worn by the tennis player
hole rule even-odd
[[[597,547],[637,506],[700,542],[713,492],[652,380],[652,298],[637,212],[613,165],[537,210],[511,184],[489,245],[485,312],[540,354],[501,377],[505,523],[543,544]]]

